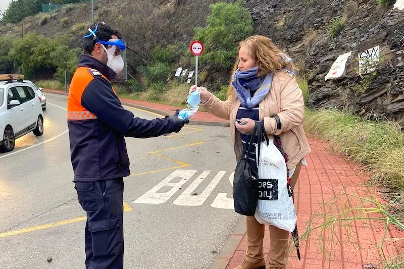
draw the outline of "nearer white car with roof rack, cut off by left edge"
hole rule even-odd
[[[0,79],[0,151],[12,151],[15,140],[31,131],[43,134],[40,97],[22,80]]]

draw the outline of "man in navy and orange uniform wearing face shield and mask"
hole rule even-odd
[[[119,32],[105,24],[88,29],[84,55],[69,88],[68,127],[74,183],[87,212],[86,269],[123,268],[123,177],[130,175],[125,136],[179,132],[188,120],[145,120],[125,110],[109,81],[124,68]]]

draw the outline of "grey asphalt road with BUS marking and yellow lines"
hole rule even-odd
[[[85,213],[72,182],[66,96],[46,97],[43,136],[28,134],[0,153],[1,269],[84,268]],[[209,268],[240,220],[229,129],[187,126],[126,142],[125,268]]]

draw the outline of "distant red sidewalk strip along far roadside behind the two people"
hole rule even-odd
[[[65,91],[60,91],[60,90],[43,89],[43,92],[66,95]],[[171,105],[166,105],[166,104],[151,103],[151,102],[147,102],[147,101],[140,101],[140,100],[134,100],[134,99],[127,99],[127,98],[119,98],[119,99],[121,100],[122,104],[132,105],[139,109],[143,109],[143,110],[154,112],[154,113],[159,113],[164,116],[173,115],[175,113],[176,109],[180,109],[180,110],[182,109],[182,107],[176,107],[176,106],[171,106]],[[210,123],[209,125],[219,125],[219,126],[227,126],[228,122],[229,122],[227,120],[220,119],[207,112],[200,112],[200,111],[196,112],[196,114],[190,119],[190,121],[193,124],[206,125],[206,124]]]

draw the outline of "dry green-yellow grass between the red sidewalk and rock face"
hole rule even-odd
[[[392,122],[375,122],[334,110],[307,110],[305,129],[372,171],[375,183],[404,194],[404,136]]]

